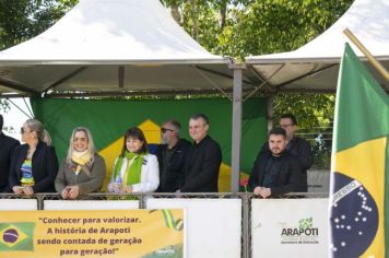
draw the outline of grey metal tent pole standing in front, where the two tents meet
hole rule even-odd
[[[232,131],[232,174],[231,191],[239,191],[240,173],[240,143],[241,143],[241,93],[243,93],[243,64],[231,64],[234,70],[234,95],[233,95],[233,131]]]

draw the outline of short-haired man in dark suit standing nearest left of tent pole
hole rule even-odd
[[[217,192],[222,151],[219,143],[208,136],[209,124],[203,114],[192,116],[189,120],[189,134],[194,143],[189,148],[184,184],[178,191]]]

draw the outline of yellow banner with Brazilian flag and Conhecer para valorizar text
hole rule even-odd
[[[185,257],[184,210],[0,212],[0,257]]]

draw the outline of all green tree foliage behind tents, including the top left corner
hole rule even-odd
[[[0,49],[58,21],[78,0],[0,0]],[[353,0],[161,0],[209,51],[244,60],[296,49],[332,25]],[[333,95],[278,94],[274,117],[291,112],[300,126],[329,124]]]

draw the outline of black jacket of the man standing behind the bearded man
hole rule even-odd
[[[298,183],[298,188],[296,191],[306,192],[308,191],[308,179],[307,179],[307,169],[314,163],[314,154],[308,141],[303,138],[294,137],[286,145],[287,152],[298,157],[303,174],[300,181]],[[266,142],[262,145],[261,151],[269,151],[269,144]]]

